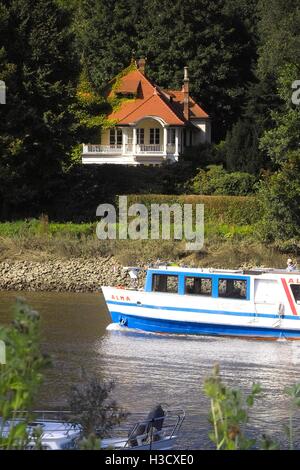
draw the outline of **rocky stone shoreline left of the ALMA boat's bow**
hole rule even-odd
[[[144,276],[139,277],[142,287]],[[130,287],[129,274],[113,256],[0,263],[0,290],[97,292],[101,285]]]

